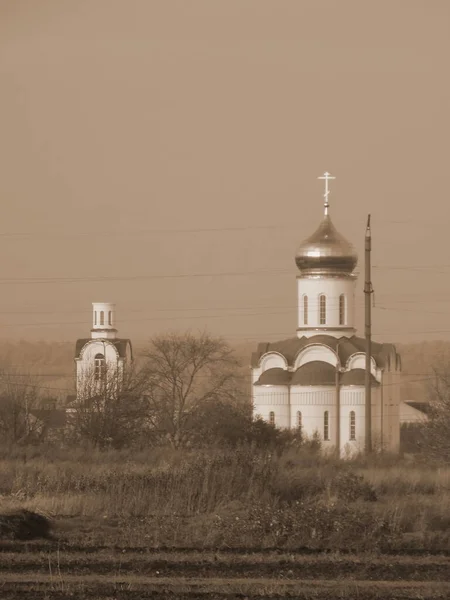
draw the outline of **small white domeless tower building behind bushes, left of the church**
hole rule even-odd
[[[77,340],[75,347],[76,399],[87,399],[105,390],[120,388],[124,369],[133,360],[131,341],[117,337],[116,307],[93,302],[90,338]]]

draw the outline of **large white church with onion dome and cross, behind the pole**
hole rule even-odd
[[[251,359],[254,416],[318,433],[324,450],[349,456],[365,446],[365,348],[355,329],[356,251],[333,225],[325,173],[324,215],[295,256],[295,337],[258,344]],[[401,359],[392,344],[372,342],[374,450],[398,452]]]

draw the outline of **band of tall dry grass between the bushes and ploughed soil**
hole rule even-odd
[[[155,547],[450,548],[450,468],[250,448],[28,452],[0,460],[0,509],[90,519],[92,543],[114,522],[110,541]]]

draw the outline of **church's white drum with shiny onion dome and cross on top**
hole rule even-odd
[[[298,337],[321,332],[334,337],[352,334],[358,255],[353,245],[331,221],[328,182],[325,173],[324,217],[316,231],[297,250]]]

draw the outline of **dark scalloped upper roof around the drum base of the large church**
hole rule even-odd
[[[314,335],[312,337],[294,337],[279,342],[263,342],[258,344],[256,352],[253,352],[251,358],[251,366],[257,367],[259,365],[260,358],[267,352],[277,352],[284,356],[289,366],[294,366],[297,354],[303,350],[306,346],[312,344],[322,344],[336,351],[338,349],[339,360],[344,365],[347,360],[356,354],[357,352],[365,352],[366,340],[365,338],[358,337],[356,335],[351,337],[335,338],[331,335]],[[339,344],[339,346],[338,346]],[[396,357],[398,365],[400,365],[400,357],[396,352],[393,344],[380,344],[378,342],[372,342],[372,356],[375,362],[380,368],[389,368],[390,357],[394,355]],[[396,365],[393,365],[396,368]]]

